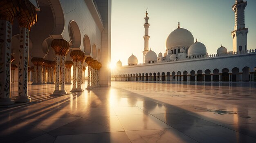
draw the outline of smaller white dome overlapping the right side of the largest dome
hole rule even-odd
[[[189,47],[188,56],[207,55],[206,47],[201,42],[195,42]]]

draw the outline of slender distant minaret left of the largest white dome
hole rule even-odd
[[[145,19],[145,24],[144,24],[144,28],[145,28],[145,35],[143,36],[144,38],[144,51],[143,52],[143,63],[145,63],[145,55],[146,53],[148,52],[148,40],[149,40],[149,36],[148,36],[148,27],[149,27],[149,23],[148,23],[148,10],[146,11],[146,17],[144,18]]]

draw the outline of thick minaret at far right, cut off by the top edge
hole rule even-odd
[[[247,51],[247,33],[248,28],[245,28],[245,7],[247,2],[244,0],[236,0],[236,3],[232,6],[235,12],[235,27],[231,32],[233,38],[233,51],[242,52]]]

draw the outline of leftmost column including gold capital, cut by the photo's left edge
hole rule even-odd
[[[11,28],[16,16],[16,7],[10,0],[2,0],[0,6],[0,105],[11,105]]]

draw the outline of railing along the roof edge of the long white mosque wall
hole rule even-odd
[[[185,59],[170,59],[170,60],[165,60],[159,63],[166,63],[166,62],[177,62],[177,61],[186,61],[186,60],[191,60],[191,59],[207,59],[207,58],[214,58],[214,57],[221,57],[221,56],[234,56],[234,55],[247,55],[247,54],[253,54],[256,53],[256,49],[252,49],[252,50],[247,50],[246,52],[227,52],[227,53],[221,53],[221,54],[210,54],[207,56],[199,56],[199,57],[187,57]],[[159,64],[159,63],[151,63],[151,64]],[[140,63],[140,64],[136,64],[136,65],[126,65],[126,66],[122,66],[122,68],[125,67],[132,67],[132,66],[140,66],[140,65],[150,65],[148,63]]]

